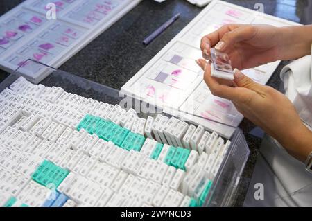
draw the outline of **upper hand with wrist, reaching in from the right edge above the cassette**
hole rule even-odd
[[[310,53],[312,26],[278,28],[268,25],[227,24],[202,37],[200,48],[209,59],[210,48],[229,55],[232,67],[248,69],[276,60],[291,60]]]

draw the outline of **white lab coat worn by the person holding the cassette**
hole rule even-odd
[[[281,70],[285,95],[302,121],[312,128],[311,55],[291,62]],[[285,119],[287,121],[287,119]],[[264,199],[254,198],[254,184],[264,186]],[[293,158],[270,136],[261,143],[260,154],[250,180],[244,206],[312,206],[312,175],[304,163]]]

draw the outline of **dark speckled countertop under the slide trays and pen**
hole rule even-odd
[[[299,22],[302,15],[310,16],[309,10],[311,11],[311,8],[306,8],[307,1],[309,0],[230,0],[228,2],[251,9],[254,9],[255,3],[263,3],[264,12],[267,14]],[[0,15],[17,6],[20,2],[18,0],[1,1]],[[144,0],[80,52],[73,55],[60,69],[120,89],[201,10],[202,8],[193,6],[186,0],[167,0],[164,3]],[[141,42],[144,37],[152,33],[153,30],[173,17],[177,12],[181,13],[180,19],[175,21],[151,44],[148,46],[142,45]],[[309,19],[305,17],[301,21],[309,22]],[[276,89],[281,88],[279,71],[286,63],[282,62],[279,65],[268,85]],[[0,82],[6,76],[8,76],[8,73],[0,70]],[[243,179],[241,179],[235,206],[243,205],[261,143],[261,139],[249,134],[250,130],[254,128],[250,121],[244,119],[240,127],[250,148],[250,158],[243,172]]]

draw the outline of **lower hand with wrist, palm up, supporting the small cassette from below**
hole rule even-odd
[[[252,123],[274,137],[290,154],[304,161],[312,148],[312,132],[302,123],[295,107],[284,94],[259,85],[241,71],[234,70],[234,85],[229,87],[211,77],[205,60],[197,61],[205,71],[204,80],[211,94],[232,100],[236,109]]]

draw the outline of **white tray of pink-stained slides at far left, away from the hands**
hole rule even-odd
[[[103,33],[141,0],[27,0],[0,17],[0,67],[23,66],[23,75],[37,83],[49,72],[28,58],[59,67]],[[55,3],[56,19],[46,19]]]

